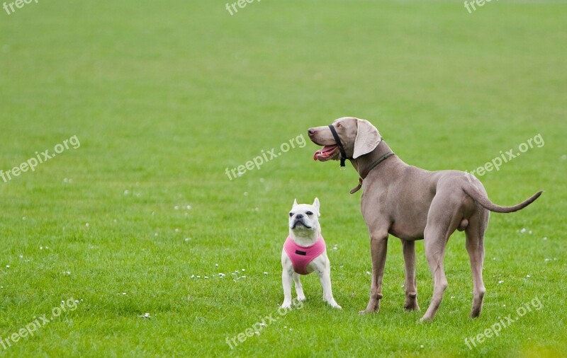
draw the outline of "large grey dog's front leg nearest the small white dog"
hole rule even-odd
[[[386,250],[388,249],[388,233],[375,231],[370,234],[370,253],[372,256],[372,282],[370,284],[370,301],[364,311],[359,314],[371,313],[380,310],[382,298],[382,277],[386,264]]]

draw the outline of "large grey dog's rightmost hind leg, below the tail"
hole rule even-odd
[[[466,250],[471,259],[471,271],[473,274],[473,308],[471,318],[481,315],[485,287],[483,283],[484,262],[484,231],[488,226],[489,212],[486,209],[478,209],[471,217],[470,224],[466,228]]]

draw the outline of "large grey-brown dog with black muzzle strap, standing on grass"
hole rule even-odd
[[[415,241],[425,239],[425,255],[433,276],[433,298],[421,321],[432,320],[447,289],[443,269],[445,246],[455,230],[465,231],[466,250],[473,272],[471,317],[481,314],[484,233],[490,212],[515,212],[536,200],[541,191],[513,207],[501,207],[488,199],[483,185],[461,171],[425,171],[395,156],[378,129],[367,120],[342,117],[332,125],[310,128],[309,138],[323,146],[315,152],[319,161],[345,159],[358,171],[364,192],[361,211],[370,234],[372,282],[370,301],[364,311],[378,311],[382,298],[382,276],[386,262],[388,234],[400,238],[405,261],[405,304],[419,310],[415,283]],[[363,181],[364,180],[364,181]]]

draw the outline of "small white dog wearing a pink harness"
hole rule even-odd
[[[297,299],[305,300],[299,275],[317,272],[323,287],[323,300],[334,308],[341,308],[332,296],[330,263],[325,241],[319,226],[319,199],[313,205],[293,201],[289,212],[289,236],[281,253],[281,281],[283,284],[282,308],[291,307],[291,279],[296,282]]]

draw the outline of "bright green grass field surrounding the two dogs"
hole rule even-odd
[[[0,178],[0,356],[565,356],[566,13],[504,0],[473,13],[461,1],[264,0],[232,16],[221,1],[0,8],[0,169],[12,171]],[[371,270],[360,192],[348,193],[357,173],[313,162],[306,133],[344,115],[429,170],[472,171],[541,134],[479,177],[498,204],[545,190],[491,216],[480,318],[468,318],[462,233],[432,323],[417,323],[432,295],[423,243],[422,312],[406,313],[393,237],[381,311],[357,314]],[[15,175],[45,150],[61,153]],[[281,315],[287,212],[315,196],[343,309],[310,275],[303,307]]]

